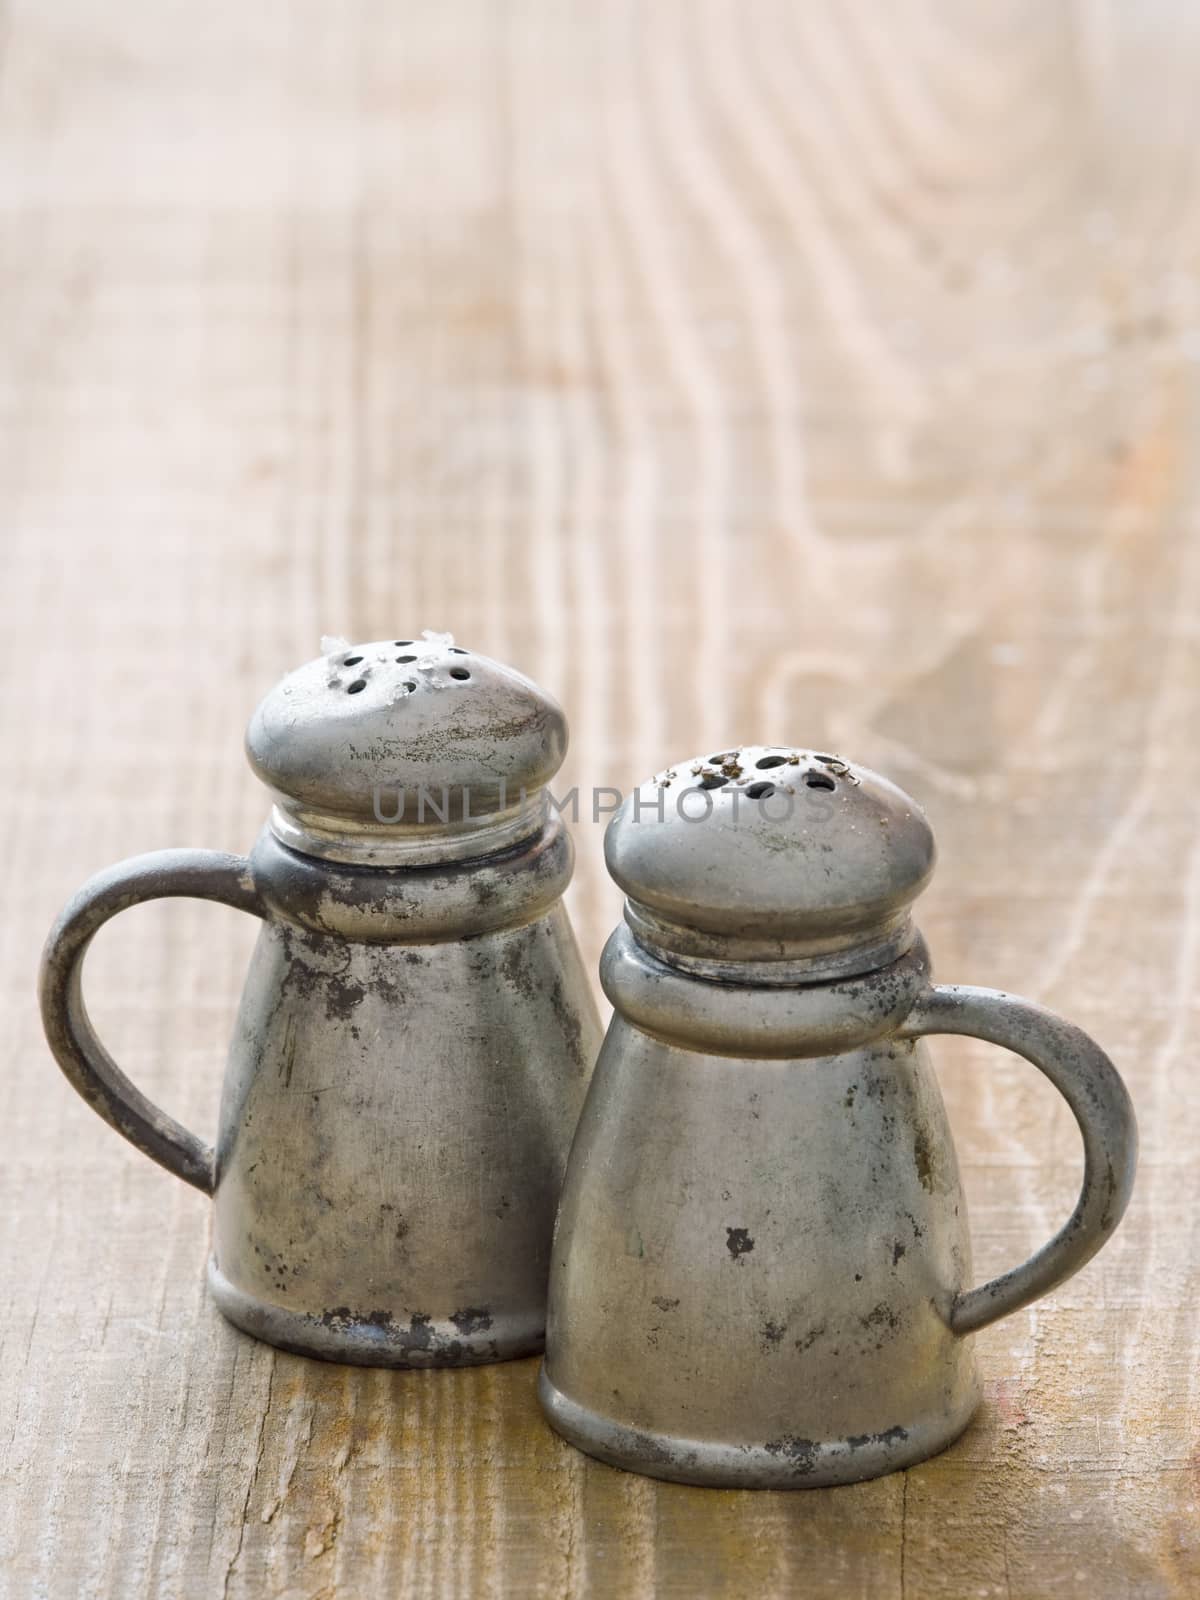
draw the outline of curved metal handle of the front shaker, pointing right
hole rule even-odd
[[[1083,1189],[1058,1234],[1019,1267],[960,1294],[950,1310],[955,1333],[974,1333],[1019,1310],[1091,1261],[1130,1203],[1138,1165],[1138,1123],[1120,1074],[1088,1035],[1043,1006],[998,989],[934,984],[899,1029],[968,1034],[1032,1061],[1075,1114],[1083,1134]]]

